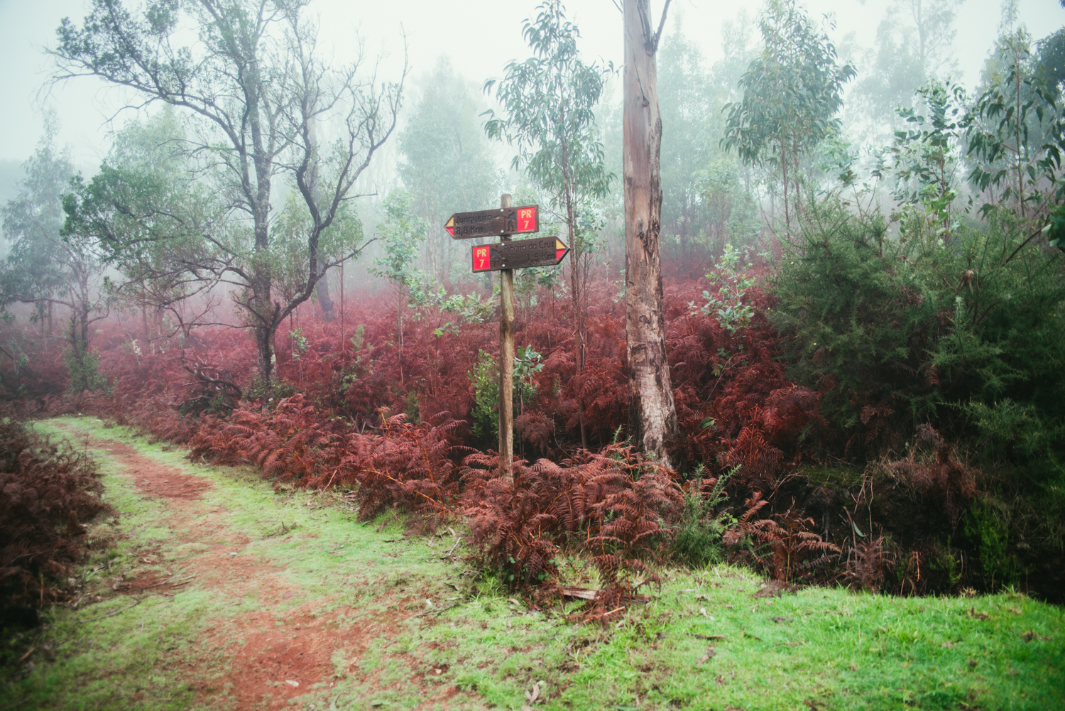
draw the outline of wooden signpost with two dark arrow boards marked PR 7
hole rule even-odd
[[[501,237],[497,244],[471,249],[473,271],[499,272],[499,475],[514,481],[514,272],[527,266],[554,266],[570,248],[554,237],[510,240],[511,235],[540,231],[540,206],[511,207],[510,195],[499,199],[498,210],[456,212],[444,229],[456,240]]]

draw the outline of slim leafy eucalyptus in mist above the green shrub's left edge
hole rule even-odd
[[[803,159],[839,130],[843,84],[855,70],[837,64],[836,46],[794,0],[772,0],[758,27],[765,48],[739,80],[743,97],[725,107],[722,145],[779,171],[790,229],[802,208]]]

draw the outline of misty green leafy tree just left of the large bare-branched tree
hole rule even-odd
[[[176,333],[189,336],[220,302],[212,293],[217,279],[203,269],[216,255],[197,225],[217,230],[225,208],[196,175],[184,128],[167,104],[117,131],[98,173],[75,179],[64,199],[64,237],[96,243],[114,268],[103,284],[108,297],[141,312],[152,352]]]

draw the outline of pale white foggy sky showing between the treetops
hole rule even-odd
[[[528,55],[521,23],[536,4],[536,0],[314,0],[311,11],[321,18],[320,47],[332,52],[337,61],[354,55],[355,37],[361,34],[371,53],[388,54],[381,74],[395,76],[403,58],[402,32],[406,31],[413,77],[429,71],[446,54],[459,74],[479,84],[498,76],[507,61]],[[566,4],[570,18],[580,28],[585,55],[620,65],[621,14],[611,0],[570,0]],[[653,0],[652,12],[660,13],[661,4],[661,0]],[[721,53],[722,21],[742,9],[755,15],[761,4],[674,0],[668,31],[676,18],[683,18],[685,34],[699,41],[712,62]],[[835,13],[837,42],[854,31],[859,46],[867,46],[887,3],[808,0],[805,4],[812,14]],[[45,106],[55,110],[60,141],[71,149],[81,169],[94,172],[105,153],[108,122],[122,106],[120,92],[94,79],[42,92],[50,67],[43,49],[54,45],[61,18],[69,16],[80,23],[86,5],[85,0],[0,0],[0,96],[5,102],[0,110],[0,160],[22,161],[29,156],[43,133],[40,111]],[[1020,0],[1019,6],[1020,21],[1036,38],[1065,25],[1065,10],[1058,0]],[[1000,15],[996,0],[966,0],[958,12],[954,51],[963,72],[960,79],[968,86],[979,77],[998,33]],[[862,67],[858,69],[861,72]],[[118,126],[125,119],[120,116]]]

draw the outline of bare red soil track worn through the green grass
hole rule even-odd
[[[252,595],[261,608],[244,615],[209,620],[204,626],[206,634],[197,645],[196,656],[202,661],[171,669],[171,673],[177,672],[193,688],[200,690],[199,704],[241,711],[292,708],[290,699],[316,691],[315,684],[324,683],[328,688],[338,675],[360,675],[356,664],[349,664],[345,669],[335,668],[332,662],[334,651],[343,649],[346,657],[361,659],[375,641],[395,640],[402,633],[397,623],[409,614],[375,614],[367,620],[359,619],[357,610],[343,607],[325,615],[312,614],[312,611],[329,603],[331,597],[290,607],[286,600],[299,589],[279,575],[285,566],[262,565],[250,555],[230,555],[235,547],[243,547],[250,539],[230,530],[225,507],[204,503],[203,494],[213,489],[209,480],[160,464],[121,442],[89,439],[87,445],[106,451],[117,473],[135,483],[145,497],[166,500],[168,514],[161,523],[175,532],[179,544],[199,544],[194,550],[202,552],[182,560],[185,570],[182,580],[194,576],[193,581],[198,588],[207,588],[234,607],[243,604],[244,598]],[[147,551],[141,556],[142,563],[153,563],[153,559],[154,555]],[[171,583],[165,576],[148,571],[117,585],[117,589],[164,595],[183,589],[180,581]],[[396,598],[399,609],[404,608],[407,599]],[[424,678],[436,670],[421,668],[425,664],[416,658],[406,653],[386,656],[402,657],[415,670],[400,685],[422,688],[423,698],[427,698],[419,708],[446,709],[450,707],[448,701],[456,697],[464,701],[464,707],[469,707],[471,701],[476,702],[456,686],[427,686]],[[220,668],[210,661],[219,657],[225,659]],[[175,663],[175,667],[178,664]],[[380,675],[381,669],[378,668],[356,681],[368,682],[372,691],[379,690]],[[289,681],[299,685],[294,686]],[[219,693],[226,698],[220,698]],[[341,706],[346,708],[347,705],[345,701]]]

